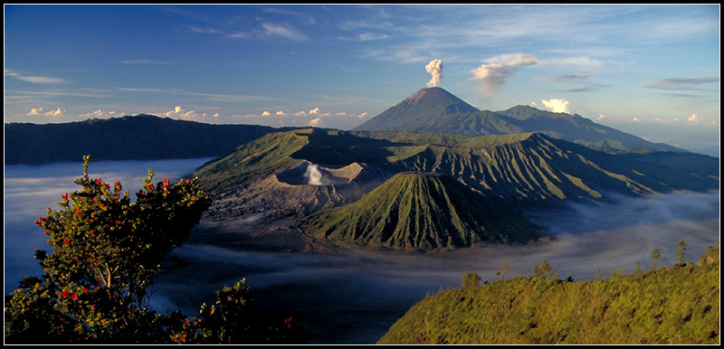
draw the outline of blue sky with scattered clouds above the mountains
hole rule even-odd
[[[349,129],[427,87],[719,154],[719,5],[5,5],[5,122]],[[714,150],[715,149],[715,150]]]

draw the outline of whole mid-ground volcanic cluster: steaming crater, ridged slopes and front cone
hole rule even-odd
[[[716,189],[719,160],[673,152],[615,155],[542,133],[310,128],[253,140],[195,175],[214,193],[209,214],[216,219],[265,212],[298,217],[319,239],[433,250],[534,240],[535,230],[520,229],[531,226],[519,214],[531,205],[605,200],[609,192]]]

